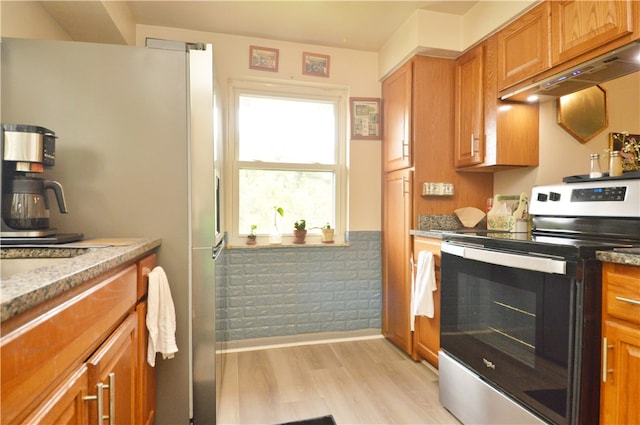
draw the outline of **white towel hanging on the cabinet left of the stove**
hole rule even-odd
[[[413,271],[413,257],[411,258]],[[416,316],[433,317],[433,292],[436,287],[436,273],[433,253],[421,251],[418,254],[418,270],[411,273],[411,330],[415,330]]]

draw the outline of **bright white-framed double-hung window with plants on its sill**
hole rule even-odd
[[[234,81],[231,96],[232,243],[244,243],[252,225],[259,243],[267,243],[274,206],[284,210],[277,219],[283,243],[300,219],[307,223],[307,243],[320,240],[319,228],[326,223],[341,241],[346,90]]]

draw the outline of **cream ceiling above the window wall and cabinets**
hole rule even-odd
[[[115,42],[100,1],[43,1],[74,40]],[[125,1],[137,24],[378,51],[417,10],[464,15],[478,1]]]

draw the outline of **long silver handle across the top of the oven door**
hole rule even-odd
[[[442,252],[456,255],[468,260],[481,261],[483,263],[496,264],[498,266],[513,267],[517,269],[533,270],[542,273],[567,274],[567,262],[552,258],[534,257],[530,255],[518,255],[507,252],[490,251],[487,249],[470,248],[444,242]]]

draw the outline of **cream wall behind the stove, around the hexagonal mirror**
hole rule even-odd
[[[540,165],[522,170],[495,174],[494,193],[531,193],[541,184],[561,183],[563,177],[588,174],[589,155],[609,147],[609,133],[628,131],[640,134],[640,72],[601,84],[607,92],[609,126],[587,143],[582,144],[558,125],[556,102],[540,105]],[[603,171],[607,159],[601,159]]]

